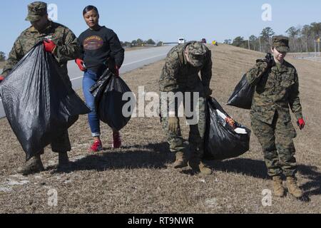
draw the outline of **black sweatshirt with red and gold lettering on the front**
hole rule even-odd
[[[101,26],[98,30],[88,28],[81,33],[78,38],[81,46],[81,59],[85,62],[87,69],[96,73],[106,68],[104,63],[108,63],[109,68],[113,64],[121,67],[124,59],[124,49],[116,33]],[[113,66],[114,67],[114,66]]]

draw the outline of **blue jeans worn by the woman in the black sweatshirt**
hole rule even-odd
[[[88,122],[91,127],[91,134],[93,137],[101,136],[101,125],[95,106],[95,98],[91,94],[90,89],[91,86],[96,84],[100,76],[100,74],[98,75],[96,72],[91,70],[86,71],[83,75],[83,95],[85,96],[88,107],[91,109],[91,113],[88,114]]]

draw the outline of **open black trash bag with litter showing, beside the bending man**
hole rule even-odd
[[[205,159],[224,160],[238,157],[250,148],[251,131],[236,122],[235,128],[237,129],[232,128],[225,119],[221,117],[222,114],[230,118],[218,101],[214,98],[209,98],[207,128],[205,132]],[[245,130],[246,133],[236,133],[235,130]]]

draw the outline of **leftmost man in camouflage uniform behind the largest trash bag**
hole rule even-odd
[[[41,1],[31,3],[28,6],[28,11],[26,21],[31,22],[31,27],[23,31],[19,38],[16,39],[14,47],[9,53],[9,58],[4,66],[2,76],[7,76],[16,63],[18,63],[36,43],[44,41],[45,50],[52,53],[56,58],[58,66],[60,66],[61,75],[64,76],[64,81],[71,88],[71,81],[67,71],[67,61],[75,59],[80,53],[76,36],[65,26],[49,21],[46,3]],[[0,78],[2,76],[0,76]],[[63,135],[57,135],[56,140],[51,143],[51,149],[54,152],[58,152],[58,168],[68,167],[67,152],[71,150],[68,131]],[[29,175],[44,170],[40,157],[43,153],[44,150],[41,150],[38,155],[32,157],[26,165],[19,167],[18,172],[23,175]]]

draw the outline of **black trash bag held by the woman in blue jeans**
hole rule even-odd
[[[131,98],[123,100],[124,93],[131,93]],[[122,78],[115,76],[107,69],[97,83],[91,87],[91,94],[95,98],[98,117],[103,123],[107,123],[113,130],[123,129],[133,113],[133,103],[136,103],[131,89]],[[123,115],[124,105],[131,103]]]

